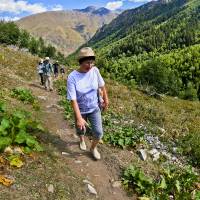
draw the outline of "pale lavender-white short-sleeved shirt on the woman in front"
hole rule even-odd
[[[97,67],[87,73],[74,70],[67,79],[67,99],[77,100],[81,114],[92,113],[98,108],[98,89],[104,85]]]

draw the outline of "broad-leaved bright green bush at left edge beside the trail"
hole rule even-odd
[[[41,125],[31,119],[30,113],[21,110],[9,113],[0,102],[0,151],[10,145],[24,146],[26,152],[42,151],[36,138],[29,134],[33,129],[42,130]]]

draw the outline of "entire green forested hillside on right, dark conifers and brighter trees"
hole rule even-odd
[[[200,1],[160,0],[123,12],[85,46],[96,49],[107,77],[195,100],[199,44]]]

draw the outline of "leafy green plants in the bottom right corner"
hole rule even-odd
[[[199,176],[190,167],[179,169],[175,166],[163,168],[159,178],[154,180],[141,169],[130,165],[125,169],[122,179],[127,190],[152,200],[168,200],[170,196],[177,200],[192,199],[194,192],[196,196],[199,195],[200,191],[195,190],[198,181]]]

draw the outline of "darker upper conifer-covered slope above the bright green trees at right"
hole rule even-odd
[[[117,46],[121,52],[133,54],[189,46],[200,42],[199,19],[198,0],[153,1],[123,12],[102,27],[89,44],[105,47],[112,43],[113,49]]]

